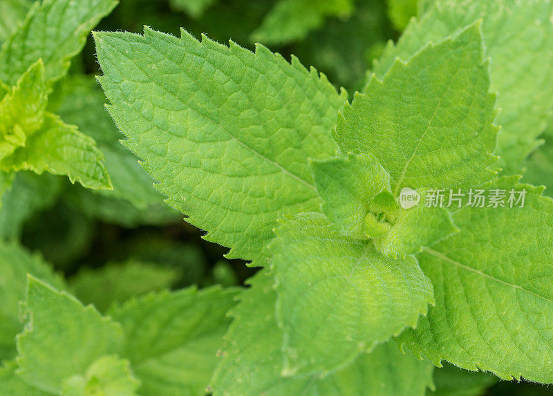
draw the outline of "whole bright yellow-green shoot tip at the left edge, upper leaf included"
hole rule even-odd
[[[94,140],[46,112],[47,97],[39,60],[0,102],[0,169],[48,171],[84,187],[111,188]]]

